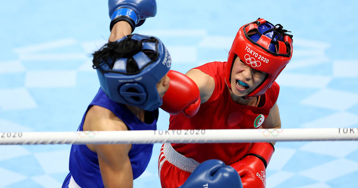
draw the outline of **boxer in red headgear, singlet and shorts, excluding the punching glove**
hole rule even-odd
[[[171,115],[169,129],[280,128],[275,79],[291,57],[292,35],[280,24],[257,19],[243,25],[227,62],[207,63],[186,73],[199,88],[201,105],[193,117]],[[173,96],[166,93],[163,101],[169,98]],[[273,153],[274,143],[165,143],[158,162],[161,186],[179,187],[200,163],[219,159],[236,169],[243,188],[265,188]]]

